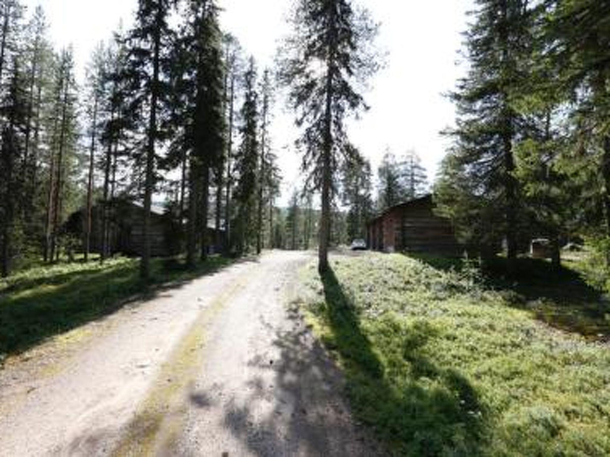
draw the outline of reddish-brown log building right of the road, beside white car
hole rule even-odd
[[[367,224],[367,246],[383,252],[432,252],[460,255],[453,225],[434,213],[432,196],[395,205]]]

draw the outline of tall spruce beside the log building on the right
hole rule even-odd
[[[478,212],[480,224],[489,217],[495,221],[506,239],[512,272],[520,213],[513,145],[523,134],[522,119],[512,99],[528,71],[523,57],[531,46],[532,16],[526,0],[478,0],[476,5],[473,23],[465,34],[470,68],[451,94],[458,119],[456,129],[450,132],[455,146],[445,160],[443,183],[447,185],[447,177],[458,172],[458,179],[468,184],[464,189],[464,183],[454,182],[453,192],[472,193],[461,201],[476,201],[465,210],[469,214]],[[448,166],[457,168],[449,171]],[[451,200],[441,201],[441,205],[450,207]],[[495,235],[497,231],[487,233]],[[498,240],[487,236],[483,242],[495,244]]]

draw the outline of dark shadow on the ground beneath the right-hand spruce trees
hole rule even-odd
[[[409,257],[443,271],[461,271],[464,264],[460,258]],[[529,309],[553,327],[589,338],[610,339],[610,307],[580,272],[565,266],[554,269],[550,262],[533,258],[519,258],[511,278],[506,277],[506,271],[506,258],[502,257],[486,261],[481,269],[484,284],[504,292],[509,305]]]

